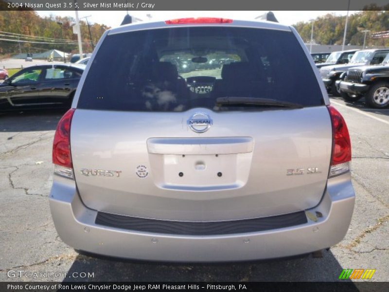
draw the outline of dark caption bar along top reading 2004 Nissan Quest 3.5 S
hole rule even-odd
[[[0,10],[245,11],[347,10],[349,0],[0,0]],[[386,5],[387,9],[383,9]],[[388,0],[351,0],[353,10],[388,10]]]

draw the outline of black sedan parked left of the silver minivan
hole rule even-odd
[[[70,108],[85,65],[37,65],[0,84],[0,111]]]

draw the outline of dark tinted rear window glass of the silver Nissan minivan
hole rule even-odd
[[[180,27],[107,36],[77,107],[94,110],[252,110],[219,97],[323,104],[318,81],[291,32]],[[255,108],[255,107],[254,107]]]

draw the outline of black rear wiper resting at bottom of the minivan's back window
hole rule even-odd
[[[301,104],[276,100],[271,98],[257,98],[257,97],[238,97],[238,96],[226,96],[216,98],[217,105],[258,105],[258,106],[271,106],[271,107],[283,107],[283,108],[295,108],[301,109],[304,106]]]

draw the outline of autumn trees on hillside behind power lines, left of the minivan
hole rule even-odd
[[[58,21],[63,23],[62,37],[61,26],[57,23]],[[73,34],[71,22],[75,22],[74,18],[59,16],[54,17],[53,15],[50,17],[41,18],[35,11],[0,11],[0,31],[8,33],[23,34],[35,37],[63,38],[76,41],[77,35]],[[83,43],[83,51],[85,53],[91,53],[92,46],[90,44],[87,23],[84,20],[81,20],[80,25],[82,40],[85,42]],[[108,28],[109,27],[104,24],[95,23],[90,25],[90,32],[94,45],[96,45],[97,41]],[[12,37],[1,38],[15,39]],[[22,53],[40,53],[50,49],[57,49],[67,53],[75,53],[78,51],[78,46],[77,44],[62,45],[20,43],[20,49]],[[19,53],[18,42],[0,40],[0,54],[5,55],[10,53]]]

